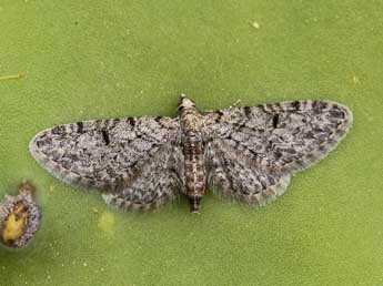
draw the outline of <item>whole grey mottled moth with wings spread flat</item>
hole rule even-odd
[[[108,204],[153,210],[206,190],[249,205],[282,195],[290,178],[345,136],[351,111],[303,100],[201,112],[181,95],[178,116],[80,121],[38,133],[33,157],[53,176],[100,190]]]

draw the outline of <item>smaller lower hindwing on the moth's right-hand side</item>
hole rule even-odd
[[[258,165],[229,140],[208,144],[206,163],[209,185],[224,196],[248,204],[264,205],[283,194],[290,183],[290,174],[271,165]]]

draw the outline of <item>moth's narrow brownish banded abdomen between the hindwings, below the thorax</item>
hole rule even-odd
[[[191,212],[198,212],[205,190],[204,147],[199,134],[185,134],[183,141],[185,187]]]

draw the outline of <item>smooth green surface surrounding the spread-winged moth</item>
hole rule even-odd
[[[38,187],[41,229],[0,285],[383,285],[382,1],[0,1],[0,197]],[[256,23],[254,23],[256,22]],[[347,137],[248,208],[213,194],[131,214],[52,178],[40,130],[85,119],[323,99]]]

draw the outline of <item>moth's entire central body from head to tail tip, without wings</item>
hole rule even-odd
[[[184,155],[185,190],[190,210],[199,212],[205,191],[204,143],[201,133],[203,118],[195,104],[182,98],[179,105]]]

